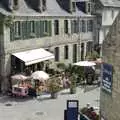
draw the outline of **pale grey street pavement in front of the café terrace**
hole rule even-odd
[[[64,120],[66,100],[79,100],[80,108],[90,103],[99,107],[100,88],[97,86],[77,87],[76,94],[69,89],[59,93],[57,99],[43,95],[38,99],[0,97],[0,120]]]

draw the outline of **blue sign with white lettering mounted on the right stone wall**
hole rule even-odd
[[[102,88],[112,93],[113,66],[107,63],[102,67]]]

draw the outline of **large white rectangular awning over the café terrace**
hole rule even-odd
[[[13,53],[12,55],[24,61],[26,66],[54,58],[54,54],[43,48]]]

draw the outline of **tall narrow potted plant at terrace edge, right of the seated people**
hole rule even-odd
[[[70,77],[70,93],[75,94],[76,93],[76,77],[74,74]]]

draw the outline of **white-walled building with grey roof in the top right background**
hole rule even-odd
[[[105,39],[109,28],[113,24],[120,10],[119,0],[95,0],[95,15],[97,18],[96,31],[98,31],[96,44],[102,48],[103,40]],[[100,50],[102,56],[102,50]]]

